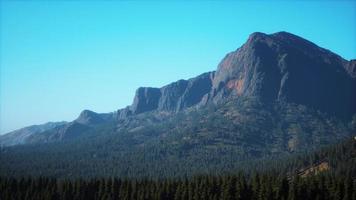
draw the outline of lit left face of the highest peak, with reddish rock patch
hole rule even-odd
[[[275,97],[279,72],[276,59],[267,46],[273,41],[263,33],[248,41],[220,62],[213,82],[212,97],[220,102],[227,96]]]

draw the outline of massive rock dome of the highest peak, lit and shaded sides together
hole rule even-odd
[[[290,33],[253,33],[221,61],[211,96],[214,102],[227,96],[254,96],[350,117],[356,112],[354,66]]]

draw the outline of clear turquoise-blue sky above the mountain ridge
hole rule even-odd
[[[0,1],[0,133],[131,104],[215,70],[252,32],[356,58],[355,1]]]

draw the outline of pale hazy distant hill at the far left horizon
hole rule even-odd
[[[19,130],[15,130],[9,132],[7,134],[0,136],[0,145],[1,146],[12,146],[18,144],[27,143],[27,139],[32,135],[39,134],[45,132],[47,130],[53,129],[58,126],[62,126],[67,122],[47,122],[41,125],[32,125],[28,127],[21,128]]]

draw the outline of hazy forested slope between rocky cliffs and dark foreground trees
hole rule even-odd
[[[241,98],[177,114],[143,113],[72,140],[6,147],[0,175],[123,178],[219,175],[262,166],[292,170],[323,156],[296,163],[298,155],[352,131],[352,123],[305,106]],[[281,166],[279,160],[291,154],[297,156]]]

